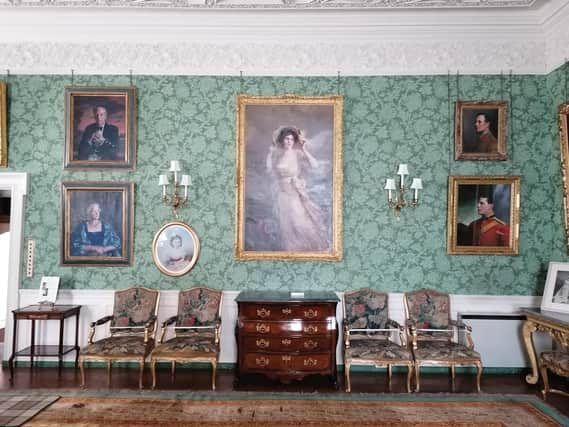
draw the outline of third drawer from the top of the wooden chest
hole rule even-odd
[[[309,353],[328,351],[332,346],[333,339],[332,334],[313,337],[245,336],[243,337],[243,346],[252,352]]]

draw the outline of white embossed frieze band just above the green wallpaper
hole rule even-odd
[[[385,40],[375,43],[0,44],[12,74],[389,75],[545,72],[543,43]]]

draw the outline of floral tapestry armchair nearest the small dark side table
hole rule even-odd
[[[133,286],[115,291],[113,314],[91,323],[86,347],[79,354],[81,386],[85,386],[85,361],[107,362],[107,385],[113,361],[139,363],[138,386],[142,388],[144,361],[154,347],[159,291]],[[94,341],[97,326],[110,322],[110,336]]]

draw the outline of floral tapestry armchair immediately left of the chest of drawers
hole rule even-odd
[[[150,355],[152,388],[156,387],[156,362],[171,362],[172,380],[176,362],[195,362],[211,364],[211,388],[215,390],[221,328],[221,296],[222,291],[207,287],[180,291],[178,314],[162,323],[160,342]],[[173,329],[174,336],[164,341],[166,330],[169,328]]]

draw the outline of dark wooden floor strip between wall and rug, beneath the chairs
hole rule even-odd
[[[4,367],[0,371],[0,388],[2,390],[26,390],[26,389],[65,389],[80,390],[79,371],[73,368],[64,368],[61,377],[56,368],[29,367],[16,368],[13,384],[10,383],[10,371]],[[211,371],[208,369],[178,369],[176,377],[172,381],[169,369],[157,370],[156,390],[169,391],[208,391],[211,387]],[[106,369],[86,369],[87,389],[107,389]],[[483,393],[503,394],[530,394],[541,396],[537,386],[529,385],[524,380],[525,375],[495,375],[486,374],[482,377]],[[386,375],[384,372],[353,372],[352,393],[388,393]],[[558,387],[569,386],[568,382],[560,378],[552,378],[552,382]],[[144,374],[144,386],[150,388],[151,378],[148,370]],[[115,367],[112,370],[112,380],[109,390],[138,390],[138,370],[134,368]],[[457,375],[455,393],[474,393],[476,389],[473,375]],[[220,369],[217,378],[217,391],[221,393],[241,391],[279,391],[279,392],[302,392],[302,393],[334,393],[343,394],[343,374],[339,374],[339,387],[326,378],[307,378],[302,382],[280,384],[265,379],[261,376],[243,378],[238,386],[234,385],[234,372],[229,369]],[[394,374],[392,389],[393,393],[405,392],[405,375]],[[449,377],[443,374],[422,374],[420,393],[448,393],[451,391]],[[548,402],[560,412],[569,416],[569,397],[551,394]]]

